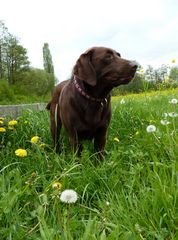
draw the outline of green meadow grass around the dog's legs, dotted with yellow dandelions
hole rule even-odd
[[[178,239],[178,117],[165,117],[178,113],[170,103],[178,91],[122,98],[113,98],[107,154],[97,165],[92,144],[78,158],[64,131],[62,152],[53,152],[46,111],[24,113],[14,130],[4,120],[0,239]],[[150,124],[156,132],[146,131]],[[40,142],[32,144],[36,135]],[[16,156],[18,148],[28,155]],[[77,192],[75,203],[60,201],[65,189]]]

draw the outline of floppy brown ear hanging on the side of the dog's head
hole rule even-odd
[[[73,68],[73,74],[91,86],[96,85],[96,72],[91,63],[91,51],[87,51],[79,57]]]

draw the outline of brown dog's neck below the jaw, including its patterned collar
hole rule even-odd
[[[78,79],[76,76],[73,78],[73,83],[75,88],[80,92],[82,96],[93,101],[103,103],[107,101],[110,97],[111,89],[104,88],[103,86],[90,86],[84,81]]]

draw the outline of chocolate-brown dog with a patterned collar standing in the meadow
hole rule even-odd
[[[63,125],[74,150],[78,146],[81,151],[82,140],[94,139],[95,151],[102,155],[111,119],[110,92],[129,83],[136,69],[134,62],[110,48],[93,47],[79,57],[71,79],[55,87],[46,107],[56,151]]]

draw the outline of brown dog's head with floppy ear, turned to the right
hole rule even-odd
[[[109,86],[129,83],[135,75],[135,62],[121,58],[113,49],[93,47],[77,60],[73,74],[91,86],[102,80]]]

